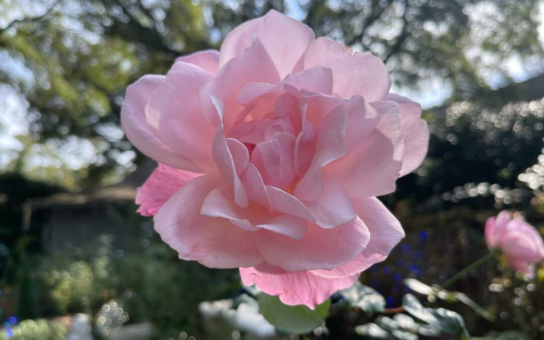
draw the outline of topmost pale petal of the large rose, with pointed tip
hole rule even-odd
[[[271,10],[263,17],[241,24],[227,35],[221,45],[220,66],[250,46],[254,35],[263,42],[280,77],[292,73],[306,46],[315,39],[310,27]]]

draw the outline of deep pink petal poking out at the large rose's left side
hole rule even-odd
[[[177,190],[198,176],[200,174],[195,174],[195,172],[159,163],[144,185],[138,189],[138,194],[136,194],[136,204],[140,205],[138,213],[144,216],[154,216]]]

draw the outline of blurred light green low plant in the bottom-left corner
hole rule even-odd
[[[66,327],[44,319],[24,320],[11,327],[11,336],[0,332],[0,340],[64,340]]]

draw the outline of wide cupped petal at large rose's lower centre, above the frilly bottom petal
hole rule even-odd
[[[360,254],[370,239],[367,227],[358,218],[333,229],[308,222],[301,240],[267,231],[254,235],[264,261],[288,271],[336,268]]]

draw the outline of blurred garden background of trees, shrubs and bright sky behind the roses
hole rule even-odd
[[[484,255],[500,209],[544,231],[543,0],[0,0],[0,339],[259,336],[199,307],[242,292],[237,270],[178,260],[135,213],[156,164],[119,113],[128,84],[270,9],[371,51],[424,108],[428,156],[381,197],[407,236],[361,275],[388,307],[410,291],[403,279],[440,284]],[[544,268],[526,282],[490,262],[452,288],[496,316],[440,302],[474,336],[544,338]],[[357,338],[360,322],[333,308],[307,338]]]

